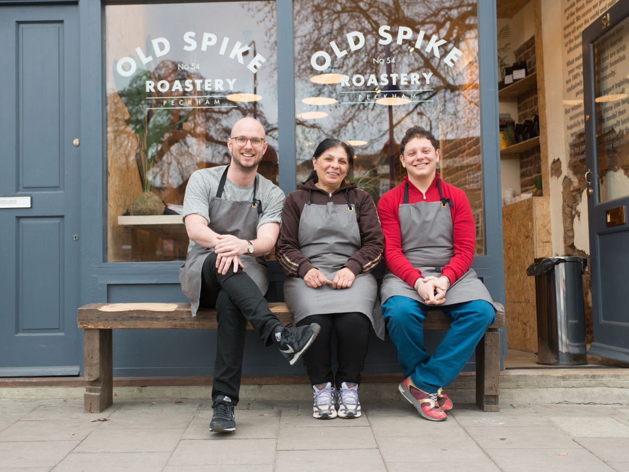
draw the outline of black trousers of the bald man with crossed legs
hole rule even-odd
[[[201,273],[201,299],[199,305],[216,308],[216,360],[212,398],[218,393],[227,395],[236,405],[242,376],[242,358],[245,352],[247,321],[267,346],[272,344],[271,335],[281,325],[269,310],[255,282],[238,268],[231,268],[225,275],[216,268],[216,254],[212,252],[203,262]]]

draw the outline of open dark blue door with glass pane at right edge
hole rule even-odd
[[[589,354],[622,362],[629,362],[629,225],[621,221],[616,224],[608,212],[624,207],[626,214],[629,207],[627,43],[626,2],[616,3],[583,33],[594,330]]]

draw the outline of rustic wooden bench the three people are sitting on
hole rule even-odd
[[[292,323],[286,303],[269,303],[282,324]],[[81,306],[77,317],[84,329],[86,413],[100,413],[113,403],[112,329],[216,329],[216,310],[199,309],[192,317],[189,303],[92,303]],[[485,412],[500,407],[500,334],[504,309],[496,315],[476,346],[476,403]],[[450,317],[430,310],[424,329],[448,329]],[[248,329],[253,329],[251,324]]]

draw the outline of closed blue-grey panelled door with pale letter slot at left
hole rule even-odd
[[[79,373],[78,43],[76,5],[0,6],[0,376]]]

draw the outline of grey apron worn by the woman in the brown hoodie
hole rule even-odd
[[[360,230],[356,208],[349,198],[347,205],[304,204],[299,220],[299,249],[326,278],[332,280],[360,249]],[[331,285],[310,288],[303,279],[287,277],[284,300],[295,323],[310,315],[359,312],[367,315],[377,337],[384,339],[384,320],[378,300],[378,284],[371,273],[359,274],[350,288],[334,289]]]

